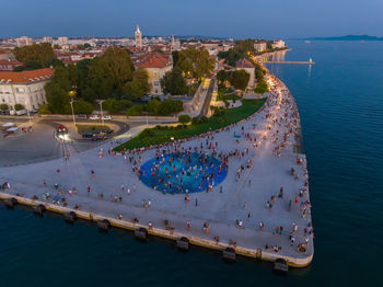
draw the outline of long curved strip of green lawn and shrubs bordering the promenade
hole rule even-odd
[[[243,118],[257,112],[265,103],[266,99],[259,100],[243,100],[243,105],[230,110],[224,110],[224,113],[219,116],[212,116],[196,125],[177,127],[154,127],[146,128],[135,138],[115,148],[116,151],[124,149],[135,149],[141,147],[148,147],[151,145],[159,145],[174,139],[188,138],[196,135],[205,134],[209,130],[219,129],[228,125],[240,122]]]

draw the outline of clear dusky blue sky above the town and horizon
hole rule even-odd
[[[0,0],[0,37],[383,36],[383,0]]]

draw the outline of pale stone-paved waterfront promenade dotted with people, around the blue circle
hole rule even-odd
[[[107,154],[111,144],[103,146],[104,157],[98,156],[97,148],[74,154],[68,161],[60,159],[1,168],[0,183],[9,181],[11,190],[5,192],[13,195],[19,193],[28,198],[37,195],[38,199],[43,200],[43,193],[49,193],[54,200],[65,197],[68,207],[71,208],[79,205],[81,210],[111,218],[123,215],[123,220],[126,221],[137,218],[140,225],[148,227],[149,222],[152,222],[159,229],[165,229],[164,220],[169,220],[174,232],[186,237],[210,241],[219,237],[218,246],[227,246],[232,240],[236,242],[237,249],[260,249],[264,259],[285,257],[291,265],[307,265],[314,249],[310,234],[311,208],[309,187],[305,186],[305,157],[294,152],[299,145],[295,134],[300,129],[300,122],[299,118],[295,122],[292,119],[293,115],[297,116],[295,104],[285,84],[272,76],[268,76],[267,79],[270,83],[274,82],[274,88],[265,108],[230,130],[213,134],[214,138],[210,140],[218,142],[218,152],[228,154],[237,150],[244,152],[244,157],[230,157],[223,182],[214,185],[209,193],[190,193],[189,202],[185,202],[185,194],[162,194],[142,183],[132,172],[132,164],[124,156]],[[266,114],[269,116],[266,117]],[[283,118],[283,122],[278,124],[276,120],[280,118]],[[285,148],[278,149],[278,157],[275,148],[283,141],[285,133],[290,129]],[[137,128],[129,133],[135,134],[139,130],[140,128]],[[246,139],[242,133],[256,138],[256,142]],[[205,142],[206,138],[194,139],[182,144],[182,147],[194,149],[202,144],[204,151],[211,154],[212,149],[208,149]],[[142,153],[141,160],[138,157],[136,159],[141,165],[154,157],[155,150],[152,149]],[[249,162],[252,163],[247,168]],[[237,179],[241,165],[244,167],[244,171]],[[94,176],[91,170],[94,170]],[[44,180],[46,186],[43,184]],[[62,184],[63,194],[54,188],[56,183]],[[90,193],[86,192],[88,186],[91,187]],[[69,195],[68,191],[73,187],[74,194]],[[279,197],[281,187],[283,194]],[[300,196],[300,191],[303,190],[305,192]],[[103,193],[103,199],[100,199],[100,193]],[[114,198],[117,198],[117,202]],[[267,202],[274,202],[271,208],[267,208]],[[142,203],[146,203],[146,207]],[[306,211],[303,216],[304,209]],[[188,220],[192,223],[189,231]],[[205,222],[210,226],[208,234],[202,230]],[[242,222],[242,228],[237,228],[236,222]],[[260,222],[265,225],[262,229]],[[293,226],[298,227],[295,232]],[[283,228],[281,232],[279,227]],[[290,234],[294,239],[292,243]],[[298,251],[299,244],[304,244],[305,241],[307,250]]]

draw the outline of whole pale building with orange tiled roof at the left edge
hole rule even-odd
[[[54,69],[45,68],[32,71],[0,71],[0,103],[14,110],[22,104],[26,110],[37,110],[46,103],[44,85],[54,74]]]

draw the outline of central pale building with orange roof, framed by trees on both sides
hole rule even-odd
[[[161,79],[167,71],[173,69],[173,59],[171,55],[154,53],[146,55],[136,64],[138,68],[143,68],[148,72],[148,82],[151,94],[162,94]]]

